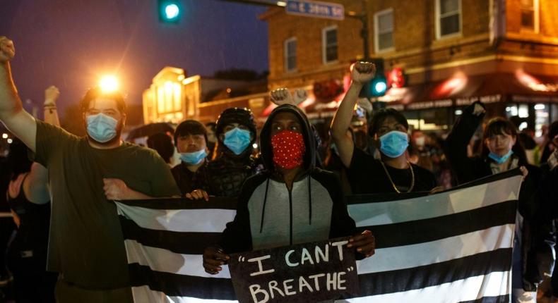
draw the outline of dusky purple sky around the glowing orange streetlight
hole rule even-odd
[[[60,107],[115,73],[133,104],[164,66],[187,75],[268,69],[266,10],[218,0],[182,0],[179,25],[159,23],[156,0],[0,0],[0,36],[16,44],[12,70],[22,99],[42,105],[56,85]]]

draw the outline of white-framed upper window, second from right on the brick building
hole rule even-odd
[[[437,39],[461,34],[461,0],[436,0]]]

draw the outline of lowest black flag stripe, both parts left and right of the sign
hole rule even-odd
[[[359,275],[360,294],[355,297],[417,290],[501,271],[511,271],[511,248],[497,249],[427,266]],[[163,273],[152,271],[148,266],[139,264],[129,264],[129,272],[132,286],[148,285],[151,290],[164,292],[169,296],[236,299],[230,279]],[[501,297],[494,297],[494,299],[487,297],[478,302],[506,301],[501,301]]]

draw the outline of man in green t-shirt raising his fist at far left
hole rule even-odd
[[[170,168],[153,150],[121,140],[120,92],[89,89],[81,100],[87,135],[36,120],[23,110],[0,37],[0,120],[49,170],[52,213],[47,269],[59,273],[57,302],[132,302],[128,263],[113,199],[179,195]]]

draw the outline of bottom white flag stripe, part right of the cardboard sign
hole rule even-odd
[[[425,287],[419,290],[394,292],[371,297],[359,297],[345,300],[351,303],[386,303],[386,302],[463,302],[482,297],[497,297],[509,294],[511,273],[509,271],[489,273],[463,280]]]

